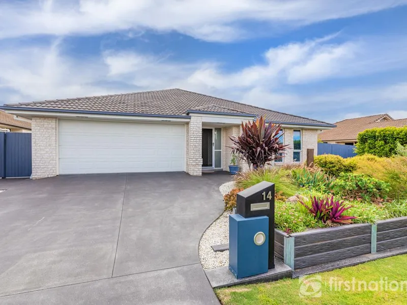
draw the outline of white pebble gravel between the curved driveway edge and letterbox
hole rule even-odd
[[[219,187],[222,196],[235,188],[235,182],[226,182]],[[229,211],[223,214],[203,233],[199,242],[199,257],[203,269],[213,269],[229,264],[229,251],[215,252],[213,245],[229,242]]]

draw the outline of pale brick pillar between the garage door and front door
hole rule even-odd
[[[191,116],[188,129],[188,173],[202,175],[202,117]]]

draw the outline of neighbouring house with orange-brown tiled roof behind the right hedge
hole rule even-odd
[[[407,126],[407,118],[393,119],[384,113],[348,118],[336,122],[335,125],[335,128],[321,132],[318,139],[324,143],[355,145],[360,132],[371,128]]]

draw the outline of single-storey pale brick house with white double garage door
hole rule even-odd
[[[323,121],[182,89],[9,104],[32,119],[33,178],[59,174],[228,170],[229,136],[263,115],[281,123],[290,144],[279,162],[303,162],[317,150]],[[294,145],[294,143],[296,143]],[[244,164],[241,164],[244,168]],[[246,165],[247,166],[247,165]]]

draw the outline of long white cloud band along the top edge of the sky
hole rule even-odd
[[[71,0],[0,3],[0,37],[93,35],[123,30],[177,31],[208,41],[258,35],[241,22],[263,22],[267,31],[352,17],[407,4],[407,0]],[[266,31],[266,32],[267,32]],[[257,32],[257,31],[256,31]],[[270,33],[269,33],[270,34]]]

